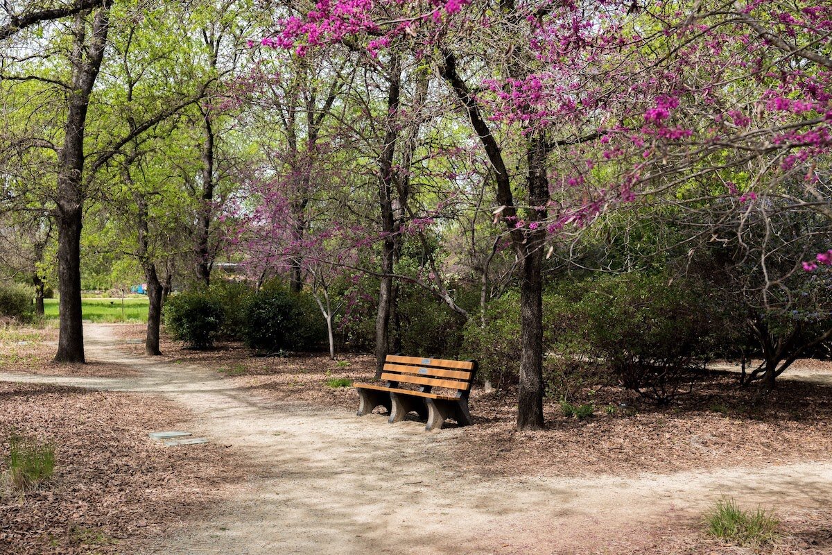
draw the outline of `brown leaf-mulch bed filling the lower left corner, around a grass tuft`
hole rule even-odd
[[[237,465],[218,445],[166,448],[147,436],[187,419],[150,395],[0,384],[3,461],[14,435],[52,444],[57,458],[35,491],[3,483],[0,553],[136,553],[198,514],[235,482]]]

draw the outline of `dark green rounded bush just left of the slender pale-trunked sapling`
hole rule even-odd
[[[243,338],[250,348],[265,352],[314,349],[326,338],[326,328],[309,295],[270,285],[250,300]]]

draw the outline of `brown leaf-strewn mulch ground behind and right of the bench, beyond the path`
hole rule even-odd
[[[119,326],[117,333],[136,339],[143,328]],[[327,382],[366,381],[374,374],[374,358],[364,354],[343,354],[334,361],[325,354],[258,359],[235,343],[204,352],[183,349],[170,339],[161,346],[167,359],[215,369],[265,399],[349,412],[358,407],[354,389]],[[125,348],[142,352],[141,345]],[[592,378],[573,400],[592,403],[592,418],[567,418],[555,399],[547,399],[547,429],[536,432],[515,429],[516,390],[473,389],[470,407],[477,425],[466,430],[453,456],[472,472],[589,476],[810,462],[828,460],[832,453],[829,386],[781,380],[772,394],[755,399],[756,389],[737,387],[735,374],[711,372],[693,394],[656,407]]]

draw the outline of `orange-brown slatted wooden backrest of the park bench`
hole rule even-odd
[[[475,360],[420,359],[388,354],[381,379],[399,384],[414,384],[420,391],[432,388],[454,389],[458,397],[468,398],[477,373]]]

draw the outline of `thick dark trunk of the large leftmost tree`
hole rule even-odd
[[[66,133],[59,155],[57,176],[58,285],[60,326],[56,362],[83,363],[84,332],[81,310],[81,228],[83,214],[84,134],[92,87],[98,77],[110,27],[110,2],[104,2],[92,22],[86,41],[81,15],[74,26],[72,92],[69,94]]]

